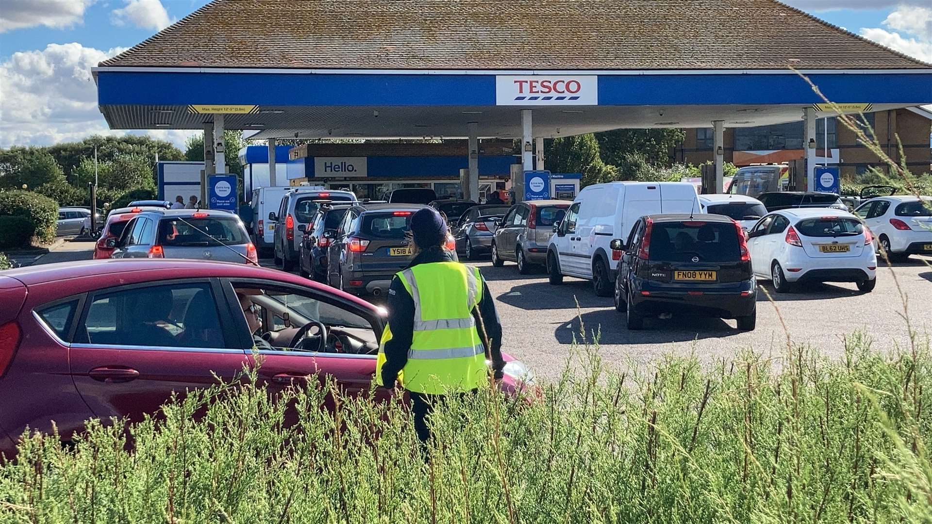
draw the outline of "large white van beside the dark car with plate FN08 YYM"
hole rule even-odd
[[[611,296],[621,251],[612,239],[627,239],[645,214],[702,213],[695,186],[685,182],[610,182],[583,187],[547,247],[550,283],[563,276],[591,280],[598,296]]]

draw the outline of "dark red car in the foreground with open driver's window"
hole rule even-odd
[[[89,260],[0,272],[0,453],[28,426],[63,440],[97,417],[142,420],[171,392],[265,359],[271,390],[333,376],[368,390],[384,311],[283,271],[182,259]],[[261,319],[264,327],[258,327]],[[506,356],[502,389],[527,369]],[[524,377],[521,377],[524,375]],[[391,393],[380,390],[377,396]]]

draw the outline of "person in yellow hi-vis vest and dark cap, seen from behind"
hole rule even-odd
[[[446,251],[446,223],[432,208],[411,216],[414,259],[391,281],[388,325],[378,348],[376,381],[411,396],[415,431],[426,446],[432,405],[447,393],[467,393],[496,379],[501,359],[501,323],[478,268],[453,261]],[[479,336],[473,310],[485,325],[489,348]],[[488,350],[488,351],[487,351]]]

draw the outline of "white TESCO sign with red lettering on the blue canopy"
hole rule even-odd
[[[597,105],[598,76],[496,76],[495,103]]]

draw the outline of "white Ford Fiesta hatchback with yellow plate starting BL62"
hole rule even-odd
[[[846,211],[777,211],[761,218],[747,236],[754,273],[772,280],[778,293],[824,282],[853,282],[870,292],[877,283],[873,235]]]

